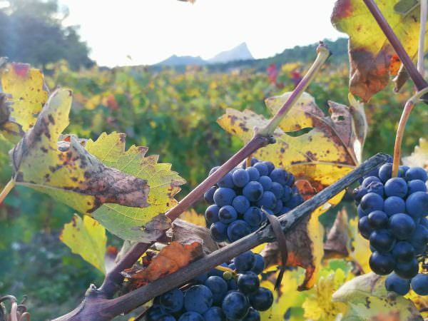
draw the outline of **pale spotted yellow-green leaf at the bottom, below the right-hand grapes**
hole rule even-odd
[[[332,295],[332,301],[348,305],[345,320],[423,321],[413,302],[388,293],[384,281],[385,277],[373,272],[355,277]]]

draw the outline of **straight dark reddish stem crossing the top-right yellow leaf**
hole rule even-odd
[[[380,29],[382,29],[384,35],[387,37],[392,48],[394,48],[395,52],[399,56],[400,61],[402,61],[404,67],[407,70],[407,73],[409,73],[410,78],[412,78],[412,81],[414,82],[414,85],[416,86],[417,90],[421,91],[422,89],[428,87],[427,81],[425,81],[425,79],[417,70],[416,66],[414,66],[412,59],[407,54],[401,41],[399,41],[397,35],[394,33],[391,26],[388,24],[387,19],[385,19],[384,15],[379,10],[379,7],[374,2],[374,0],[363,1],[365,2],[367,8],[370,10],[370,13],[376,20]]]

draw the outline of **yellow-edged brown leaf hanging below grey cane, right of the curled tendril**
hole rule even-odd
[[[315,284],[321,268],[324,255],[322,249],[324,228],[318,218],[319,215],[312,213],[310,217],[304,218],[291,233],[285,235],[288,252],[287,266],[300,266],[306,269],[305,280],[298,290],[310,289]],[[282,265],[277,242],[267,244],[261,255],[265,258],[267,266]]]

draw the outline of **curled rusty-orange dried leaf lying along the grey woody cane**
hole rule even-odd
[[[149,260],[147,266],[134,265],[124,270],[122,274],[129,279],[129,287],[141,287],[185,267],[201,255],[203,255],[203,249],[200,238],[198,236],[192,238],[189,235],[187,243],[181,244],[174,241]]]

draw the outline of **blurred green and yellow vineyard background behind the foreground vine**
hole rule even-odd
[[[25,10],[29,9],[14,10],[0,11],[0,23],[16,19],[25,24]],[[45,18],[46,10],[41,9]],[[54,22],[49,24],[55,25]],[[61,32],[76,36],[71,29]],[[5,35],[0,31],[2,50],[6,50],[3,44],[9,41]],[[347,40],[327,44],[333,56],[307,90],[326,112],[328,100],[347,104],[349,79]],[[50,61],[41,61],[31,50],[27,56],[15,55],[14,51],[0,51],[0,56],[43,68],[50,91],[57,87],[73,90],[68,133],[95,139],[105,131],[123,132],[127,144],[148,146],[149,154],[158,154],[161,162],[172,163],[173,170],[188,181],[178,194],[180,199],[205,178],[210,168],[223,163],[242,146],[241,141],[218,126],[217,118],[226,108],[250,108],[268,116],[264,99],[292,91],[308,62],[315,58],[315,46],[288,49],[275,57],[247,63],[177,68],[103,68],[88,61],[87,52],[80,62],[76,56],[61,56],[61,53]],[[412,89],[409,86],[398,94],[393,93],[392,87],[387,88],[366,104],[370,131],[365,158],[377,152],[392,153],[394,130],[407,93]],[[419,137],[427,137],[427,123],[427,108],[419,106],[404,136],[405,155],[411,153]],[[6,141],[0,141],[2,155],[10,148]],[[0,166],[2,187],[11,177],[9,160],[0,158]],[[203,204],[196,205],[195,210],[203,213]],[[325,213],[323,223],[328,226],[337,210]],[[0,293],[28,295],[34,320],[71,310],[90,282],[99,284],[102,280],[99,272],[58,241],[58,231],[68,223],[72,213],[61,203],[26,188],[16,188],[0,205]],[[120,246],[116,238],[109,240],[111,245]]]

